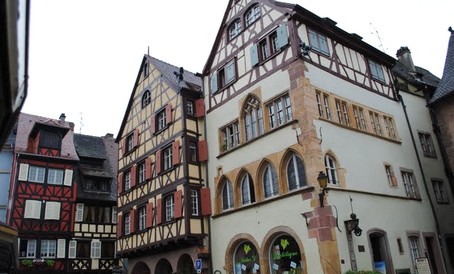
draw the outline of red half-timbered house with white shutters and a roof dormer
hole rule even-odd
[[[19,237],[16,273],[67,273],[78,161],[73,131],[64,114],[19,115],[8,214]]]

